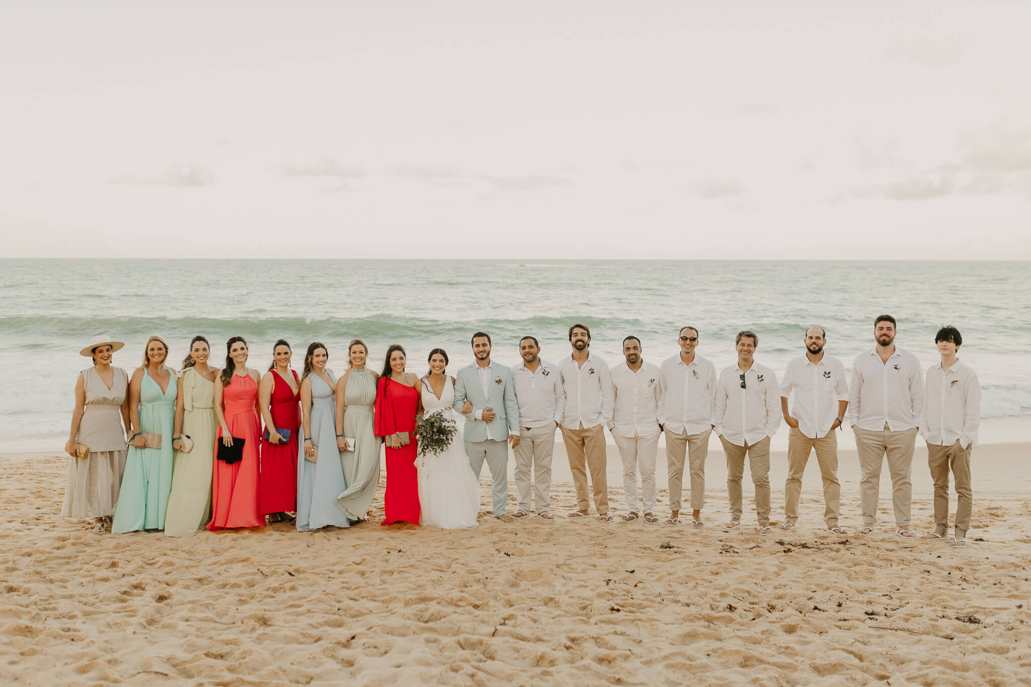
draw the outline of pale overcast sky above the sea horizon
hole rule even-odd
[[[1029,24],[5,0],[3,254],[1031,260]]]

